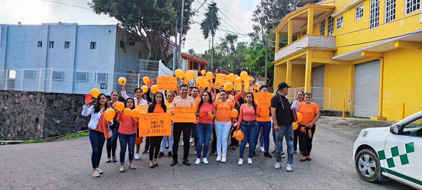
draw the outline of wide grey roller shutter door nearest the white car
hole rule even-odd
[[[379,67],[380,60],[356,65],[354,70],[354,106],[357,108],[354,108],[353,117],[370,118],[378,115]]]

